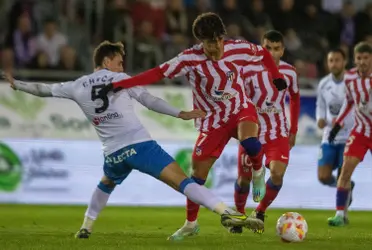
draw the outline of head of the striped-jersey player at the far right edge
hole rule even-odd
[[[366,42],[361,42],[354,47],[354,63],[359,73],[364,74],[371,71],[372,47]]]

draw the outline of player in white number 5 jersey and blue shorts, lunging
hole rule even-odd
[[[94,73],[76,81],[55,84],[28,83],[13,80],[9,74],[5,75],[5,79],[16,90],[40,97],[75,101],[94,125],[103,144],[104,175],[93,193],[84,223],[76,237],[90,236],[93,223],[106,206],[115,186],[124,181],[133,169],[161,180],[190,200],[220,214],[224,226],[232,224],[260,227],[255,220],[228,208],[210,190],[188,178],[174,159],[151,139],[134,113],[132,99],[155,112],[184,120],[203,117],[204,112],[180,111],[139,87],[123,90],[115,96],[97,96],[98,90],[105,84],[129,78],[122,73],[123,55],[124,46],[121,43],[101,43],[94,52]]]

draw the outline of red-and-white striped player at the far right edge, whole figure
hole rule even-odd
[[[354,107],[354,126],[344,151],[344,162],[337,181],[336,215],[328,218],[330,226],[348,223],[347,208],[350,199],[351,175],[368,150],[372,150],[372,47],[362,42],[354,47],[356,70],[345,74],[346,100],[329,133],[333,143],[342,129],[344,120]]]

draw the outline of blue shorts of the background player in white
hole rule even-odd
[[[318,167],[332,166],[332,169],[342,167],[344,159],[345,144],[328,144],[324,143],[320,146]]]

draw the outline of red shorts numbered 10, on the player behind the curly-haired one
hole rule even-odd
[[[289,139],[288,137],[280,137],[273,141],[268,141],[262,145],[262,152],[256,161],[262,162],[263,157],[266,156],[265,166],[269,167],[272,161],[281,161],[288,165],[289,161]],[[261,163],[262,164],[262,163]],[[242,146],[239,146],[238,153],[238,175],[243,177],[250,177],[252,169],[252,162]]]

